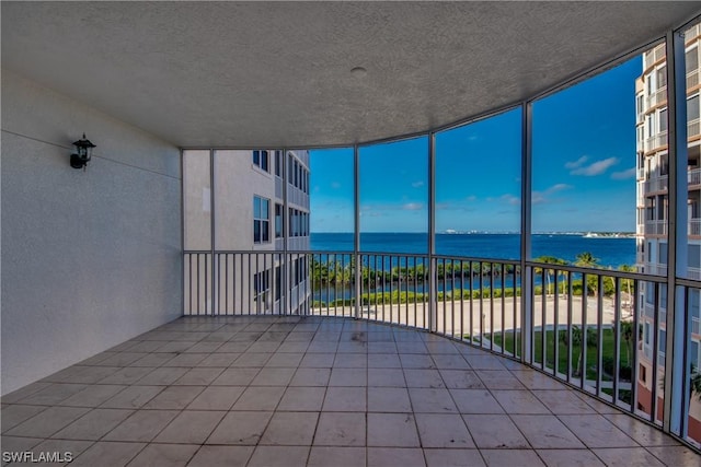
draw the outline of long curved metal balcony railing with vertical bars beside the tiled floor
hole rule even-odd
[[[658,339],[642,340],[644,325],[660,324],[652,336],[664,328],[664,310],[655,319],[647,304],[664,278],[425,254],[185,252],[183,259],[185,315],[314,315],[413,327],[513,359],[654,421],[653,408],[636,404],[648,390],[636,372],[655,354],[658,367],[665,364]],[[654,396],[659,372],[647,377]]]

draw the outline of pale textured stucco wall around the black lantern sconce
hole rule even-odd
[[[176,147],[3,70],[1,164],[2,394],[181,315]]]

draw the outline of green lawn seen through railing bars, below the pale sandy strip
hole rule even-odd
[[[565,329],[560,329],[559,334],[561,336],[566,335],[566,330]],[[588,334],[596,334],[596,328],[588,328],[587,329],[587,335]],[[490,337],[490,335],[487,335],[487,337]],[[613,330],[612,329],[604,329],[602,330],[602,337],[604,337],[604,348],[602,348],[602,360],[606,361],[608,359],[609,361],[609,365],[605,364],[605,367],[612,367],[612,362],[614,359],[614,345],[613,345]],[[555,360],[555,351],[554,351],[554,339],[555,339],[555,332],[553,330],[547,330],[545,331],[545,366],[549,369],[553,369],[554,367],[554,360]],[[512,332],[506,332],[505,337],[502,337],[501,332],[496,332],[493,336],[493,340],[494,343],[504,348],[506,351],[512,351],[514,348],[514,335]],[[630,343],[630,346],[632,346],[633,343]],[[625,342],[625,340],[620,339],[620,362],[619,365],[620,366],[630,366],[630,362],[628,361],[628,354],[627,354],[627,347],[629,346],[628,342]],[[542,331],[537,330],[535,332],[535,342],[533,342],[533,347],[535,347],[535,353],[533,353],[533,361],[536,363],[542,363],[543,360],[543,342],[542,342]],[[576,369],[577,369],[577,362],[579,360],[579,354],[581,354],[581,349],[582,346],[579,345],[573,345],[572,346],[572,375],[574,376]],[[630,349],[632,352],[632,349]],[[596,362],[597,362],[597,345],[595,342],[589,342],[589,345],[587,346],[587,351],[586,351],[586,364],[583,361],[581,363],[582,369],[584,369],[586,366],[587,369],[587,373],[586,373],[586,377],[587,380],[596,380]],[[520,335],[517,334],[516,335],[516,355],[520,357]],[[561,339],[559,339],[558,341],[558,371],[561,373],[566,373],[566,369],[567,369],[567,346],[565,345],[565,342]],[[611,374],[604,374],[601,376],[602,381],[611,381]]]

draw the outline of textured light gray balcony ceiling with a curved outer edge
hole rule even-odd
[[[182,147],[345,144],[517,103],[700,10],[699,2],[3,1],[2,67]]]

